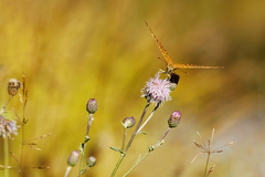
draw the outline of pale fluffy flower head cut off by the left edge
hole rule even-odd
[[[18,125],[15,121],[9,121],[0,115],[0,136],[11,137],[11,134],[18,135]]]

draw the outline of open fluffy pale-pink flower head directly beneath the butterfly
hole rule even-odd
[[[170,97],[170,82],[168,80],[160,80],[160,74],[157,73],[155,79],[150,79],[146,83],[142,97],[152,103],[162,103],[171,100]]]

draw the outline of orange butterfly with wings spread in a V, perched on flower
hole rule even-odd
[[[158,48],[160,49],[160,51],[161,51],[161,53],[163,55],[163,61],[167,64],[165,73],[170,75],[174,70],[178,70],[178,69],[223,69],[223,66],[206,66],[206,65],[193,65],[193,64],[174,64],[172,62],[172,60],[169,58],[169,54],[166,51],[166,49],[163,49],[162,44],[158,41],[157,37],[151,31],[151,28],[148,25],[147,22],[146,22],[146,24],[147,24],[149,31],[151,32],[152,38],[155,39]]]

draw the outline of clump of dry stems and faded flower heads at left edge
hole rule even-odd
[[[22,80],[23,82],[21,83],[17,79],[11,79],[8,82],[8,94],[9,94],[9,100],[7,104],[1,108],[0,112],[0,137],[4,138],[4,165],[0,165],[1,168],[6,169],[4,176],[9,176],[8,169],[18,169],[19,176],[22,175],[23,171],[23,156],[24,156],[24,146],[28,146],[32,149],[35,150],[41,150],[39,147],[36,147],[35,140],[47,137],[52,135],[51,133],[47,135],[42,135],[40,137],[29,139],[25,138],[24,135],[24,126],[28,123],[29,119],[25,118],[25,106],[28,103],[29,94],[28,94],[28,88],[25,87],[25,76],[22,74]],[[22,94],[19,93],[20,88],[22,90]],[[20,116],[14,108],[12,108],[12,112],[14,114],[14,119],[7,119],[3,117],[3,113],[10,114],[10,111],[7,111],[7,106],[10,103],[10,101],[19,94],[20,96],[20,102],[22,104],[22,116]],[[15,139],[12,137],[12,135],[18,135],[21,134],[21,140]],[[15,154],[9,150],[9,142],[6,140],[7,138],[14,140],[15,143],[21,144],[21,152],[20,152],[20,158]],[[18,166],[10,166],[9,165],[9,154],[14,158],[17,162]],[[36,167],[31,167],[31,168],[38,168],[38,169],[45,169],[49,168],[49,166],[36,166]]]

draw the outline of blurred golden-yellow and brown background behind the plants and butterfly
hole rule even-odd
[[[145,82],[165,70],[145,21],[176,63],[224,69],[177,71],[181,77],[172,101],[145,127],[147,136],[137,136],[117,176],[160,138],[176,110],[182,113],[178,128],[129,176],[202,176],[206,155],[190,164],[199,150],[192,140],[200,142],[200,132],[206,142],[213,128],[213,147],[231,140],[234,145],[212,155],[210,166],[216,165],[212,176],[265,176],[264,7],[261,0],[1,0],[1,104],[9,98],[9,79],[21,81],[24,73],[30,96],[25,138],[53,133],[35,142],[41,152],[24,148],[24,167],[50,169],[25,168],[23,176],[64,175],[68,155],[84,139],[85,105],[92,97],[98,111],[86,157],[95,156],[97,164],[84,176],[110,176],[119,154],[108,146],[121,145],[120,122],[126,116],[139,119],[146,104],[140,97]],[[19,96],[7,111],[11,107],[22,115]],[[3,116],[14,118],[12,113]],[[21,134],[15,138],[21,139]],[[9,143],[19,158],[20,144]],[[17,166],[12,157],[10,165]],[[73,168],[70,176],[77,176],[77,170]],[[10,169],[10,176],[17,174]]]

